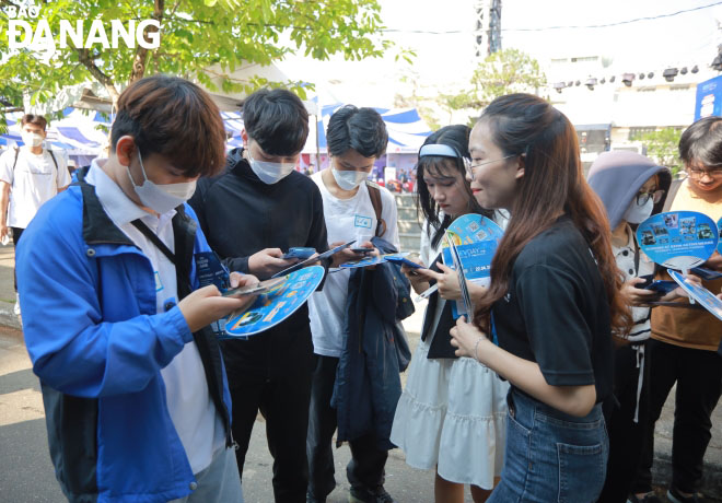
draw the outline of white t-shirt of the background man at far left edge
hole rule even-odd
[[[58,167],[47,150],[35,155],[25,148],[20,149],[15,163],[15,149],[0,156],[0,180],[10,184],[8,225],[25,229],[45,201],[58,194],[58,189],[70,185],[70,172],[65,157],[54,152]],[[13,169],[13,164],[15,168]]]

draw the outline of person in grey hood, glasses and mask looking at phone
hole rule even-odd
[[[645,358],[650,338],[649,302],[661,299],[641,288],[654,273],[654,262],[639,248],[631,225],[638,225],[664,207],[672,184],[668,168],[636,152],[602,153],[590,168],[587,182],[599,196],[609,219],[612,249],[625,276],[622,292],[631,305],[634,326],[626,336],[627,344],[615,349],[614,396],[605,403],[609,434],[607,477],[598,501],[625,503],[631,492],[649,426],[649,371]],[[630,496],[636,501],[633,494]],[[643,500],[642,500],[643,501]]]

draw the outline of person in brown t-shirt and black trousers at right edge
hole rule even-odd
[[[707,117],[692,124],[679,140],[679,156],[687,178],[674,195],[671,211],[698,211],[715,222],[722,217],[722,117]],[[722,256],[714,255],[702,266],[722,270]],[[669,279],[660,272],[657,279]],[[719,292],[722,279],[702,281]],[[648,354],[650,369],[650,418],[632,502],[659,502],[652,494],[654,423],[675,385],[676,402],[672,445],[672,486],[667,498],[674,503],[701,502],[697,487],[702,460],[711,438],[710,417],[722,391],[722,360],[717,352],[722,321],[702,309],[680,307],[652,309],[652,336]]]

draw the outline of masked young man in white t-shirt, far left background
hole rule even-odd
[[[12,229],[15,246],[40,206],[70,184],[62,155],[43,149],[47,137],[45,117],[26,114],[20,124],[24,145],[8,149],[0,156],[0,237]],[[16,296],[16,276],[14,286]],[[18,302],[15,314],[20,315]]]

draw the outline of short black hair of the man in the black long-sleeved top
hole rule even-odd
[[[261,89],[243,103],[246,133],[269,155],[295,155],[308,138],[308,112],[284,89]]]

